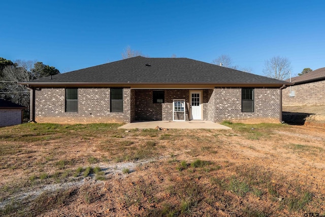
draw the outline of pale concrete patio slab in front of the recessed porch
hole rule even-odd
[[[220,130],[232,130],[229,127],[220,125],[208,120],[191,120],[191,121],[145,121],[145,122],[133,122],[126,123],[119,127],[119,129],[154,129],[156,127],[167,129],[220,129]]]

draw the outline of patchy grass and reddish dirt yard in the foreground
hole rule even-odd
[[[325,215],[325,129],[224,124],[1,128],[0,215]]]

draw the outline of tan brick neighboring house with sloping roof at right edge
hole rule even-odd
[[[291,78],[291,82],[294,85],[283,90],[284,106],[325,105],[325,68]]]

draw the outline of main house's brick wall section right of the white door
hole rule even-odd
[[[242,112],[241,96],[241,88],[215,88],[208,103],[209,120],[279,122],[278,88],[254,88],[254,112]]]

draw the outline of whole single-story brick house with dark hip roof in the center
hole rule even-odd
[[[137,56],[23,82],[31,120],[279,122],[289,82],[188,58]]]

